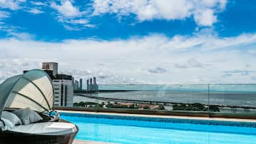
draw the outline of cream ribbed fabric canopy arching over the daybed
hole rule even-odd
[[[46,72],[33,69],[0,85],[0,115],[4,108],[26,108],[38,112],[52,110],[52,80]]]

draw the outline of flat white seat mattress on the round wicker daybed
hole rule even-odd
[[[46,122],[32,123],[29,125],[17,125],[11,129],[11,131],[39,135],[68,135],[71,133],[76,133],[77,128],[72,123]]]

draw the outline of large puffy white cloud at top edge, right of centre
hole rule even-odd
[[[139,21],[186,19],[194,16],[199,26],[212,26],[226,0],[95,0],[93,15],[112,13],[118,17],[136,14]]]

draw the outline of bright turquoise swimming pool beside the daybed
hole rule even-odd
[[[75,123],[76,139],[120,144],[253,144],[256,123],[176,120],[113,115],[75,115],[61,118]]]

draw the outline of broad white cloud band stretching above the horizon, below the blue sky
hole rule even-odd
[[[78,77],[97,76],[99,83],[252,83],[256,77],[256,34],[219,38],[163,35],[131,37],[126,40],[69,39],[63,42],[37,42],[32,39],[1,39],[0,59],[29,59],[39,68],[44,61],[59,62],[60,72]],[[249,48],[251,47],[251,48]],[[243,48],[247,48],[244,50]],[[36,67],[35,67],[36,66]],[[234,69],[239,69],[234,70]],[[9,73],[8,73],[9,72]],[[160,81],[159,81],[160,80]]]

